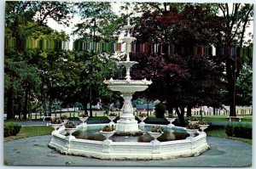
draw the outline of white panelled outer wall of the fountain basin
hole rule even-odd
[[[49,147],[66,155],[81,155],[108,160],[165,160],[201,155],[202,152],[209,149],[205,132],[200,132],[195,138],[183,140],[159,143],[131,143],[78,138],[70,140],[61,134],[64,130],[64,128],[60,128],[52,134]]]

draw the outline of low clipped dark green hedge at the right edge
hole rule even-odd
[[[253,128],[248,125],[227,125],[225,132],[230,137],[236,138],[253,138]]]

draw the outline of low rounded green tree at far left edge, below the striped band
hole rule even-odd
[[[4,89],[7,96],[8,119],[15,117],[14,100],[19,93],[23,95],[24,103],[18,104],[20,106],[23,105],[23,119],[26,119],[28,103],[30,103],[34,93],[37,93],[38,84],[41,82],[38,70],[32,65],[27,65],[25,61],[14,61],[13,59],[5,58],[4,71]]]

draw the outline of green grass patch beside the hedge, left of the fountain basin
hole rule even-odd
[[[52,131],[52,127],[21,127],[20,132],[16,136],[9,136],[7,138],[3,138],[3,141],[8,142],[19,138],[49,135]]]

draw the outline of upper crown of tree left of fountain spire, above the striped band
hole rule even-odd
[[[114,31],[117,31],[116,26],[119,26],[120,20],[115,20],[117,16],[111,10],[110,3],[82,2],[76,3],[76,6],[79,8],[82,20],[76,25],[74,34],[92,42],[116,40],[116,36],[113,35]]]

